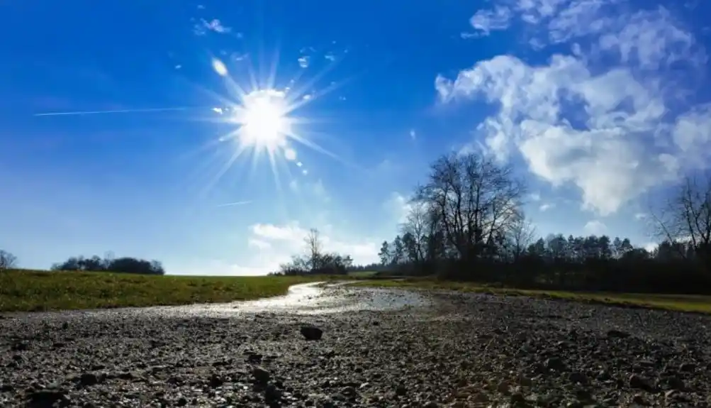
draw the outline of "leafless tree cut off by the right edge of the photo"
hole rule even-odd
[[[670,244],[685,243],[702,261],[711,261],[711,177],[687,177],[651,215],[656,236]],[[683,246],[675,247],[688,256]]]

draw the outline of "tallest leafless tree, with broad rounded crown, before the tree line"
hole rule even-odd
[[[505,234],[524,193],[510,167],[476,153],[453,153],[432,164],[417,198],[439,216],[447,245],[460,258],[470,258]]]

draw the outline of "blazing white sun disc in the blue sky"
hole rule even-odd
[[[233,112],[240,125],[240,144],[268,152],[286,147],[292,134],[288,110],[285,95],[279,90],[255,90],[245,95]]]

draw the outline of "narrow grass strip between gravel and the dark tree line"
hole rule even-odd
[[[570,291],[535,291],[515,288],[493,288],[476,283],[437,281],[434,279],[407,278],[403,280],[362,281],[353,286],[385,288],[410,288],[424,290],[449,290],[491,295],[531,296],[554,300],[570,300],[587,303],[604,303],[625,307],[655,308],[682,312],[711,313],[711,296],[668,295],[655,293],[600,293]]]

